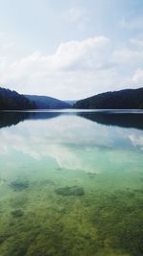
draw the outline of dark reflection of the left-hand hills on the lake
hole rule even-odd
[[[58,112],[0,112],[0,128],[16,126],[27,119],[50,119],[58,115]]]

